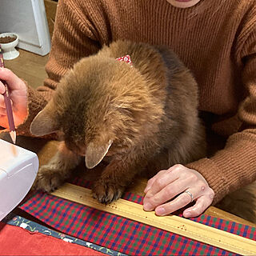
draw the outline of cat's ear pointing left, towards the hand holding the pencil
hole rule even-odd
[[[59,126],[54,112],[53,109],[47,106],[40,111],[31,122],[30,133],[35,136],[44,136],[58,131]]]

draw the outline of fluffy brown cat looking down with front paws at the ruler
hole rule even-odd
[[[126,54],[133,67],[115,59]],[[65,141],[40,168],[34,187],[54,190],[81,155],[88,168],[108,158],[94,197],[104,203],[120,198],[142,170],[205,156],[197,108],[198,86],[171,50],[125,41],[104,46],[74,65],[30,126],[38,136],[60,130]]]

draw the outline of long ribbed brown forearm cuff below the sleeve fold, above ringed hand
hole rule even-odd
[[[212,158],[203,158],[186,166],[197,170],[214,190],[214,202],[256,179],[256,130],[233,134],[224,150]]]

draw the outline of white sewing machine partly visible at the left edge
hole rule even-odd
[[[0,221],[25,198],[38,166],[36,154],[0,139]]]

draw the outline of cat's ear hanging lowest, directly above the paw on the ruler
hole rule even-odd
[[[102,161],[106,156],[106,153],[110,149],[112,141],[102,143],[102,145],[95,145],[94,142],[90,142],[86,147],[86,167],[92,169]]]

